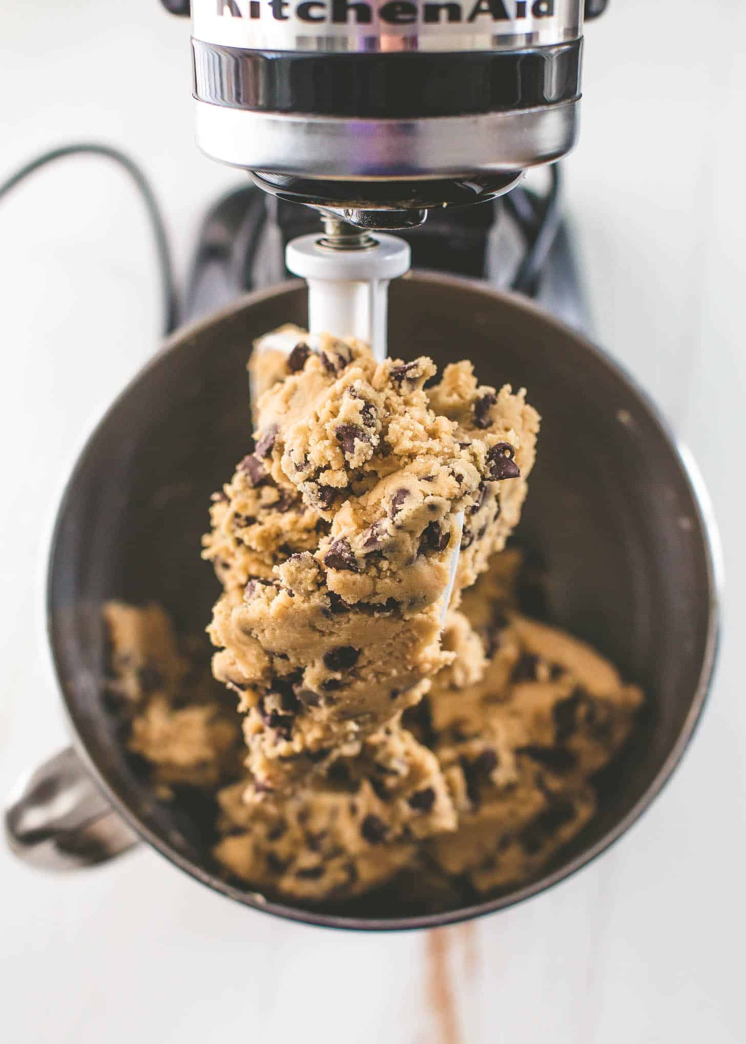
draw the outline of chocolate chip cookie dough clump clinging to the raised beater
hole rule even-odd
[[[205,546],[225,592],[214,672],[238,694],[261,800],[355,755],[452,659],[451,555],[456,602],[518,520],[538,429],[522,389],[480,386],[467,362],[436,381],[426,357],[378,363],[292,332],[289,355],[258,346],[255,449]]]

